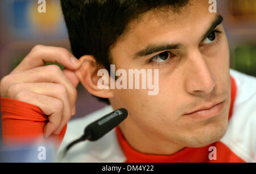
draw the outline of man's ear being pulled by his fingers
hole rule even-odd
[[[100,69],[97,66],[96,59],[93,56],[86,55],[82,56],[79,61],[81,62],[81,66],[75,71],[75,74],[86,90],[97,97],[113,97],[114,93],[109,88],[109,82],[106,82],[108,86],[104,89],[98,87],[98,80],[101,77],[98,76],[98,70]]]

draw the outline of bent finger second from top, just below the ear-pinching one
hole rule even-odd
[[[71,73],[71,72],[69,72]],[[13,83],[37,83],[37,82],[47,82],[47,83],[60,83],[67,88],[68,91],[68,97],[70,101],[70,105],[73,108],[73,105],[75,105],[76,97],[77,97],[77,91],[76,88],[73,86],[73,84],[69,81],[67,77],[63,74],[63,72],[60,70],[59,66],[57,65],[48,65],[48,66],[41,66],[36,67],[31,70],[24,71],[19,74],[13,74],[9,75],[9,80],[6,80],[6,84],[3,87],[6,87],[7,89],[10,87]],[[9,84],[7,84],[9,83]],[[3,90],[3,91],[7,91]],[[6,94],[5,94],[6,95]]]

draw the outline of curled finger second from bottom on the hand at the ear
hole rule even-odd
[[[59,134],[65,124],[70,120],[73,109],[73,106],[69,103],[68,91],[65,86],[59,83],[14,83],[9,87],[7,97],[13,99],[14,96],[22,90],[31,91],[44,96],[50,96],[63,102],[64,108],[61,116],[61,122],[59,128],[54,132],[55,134]]]

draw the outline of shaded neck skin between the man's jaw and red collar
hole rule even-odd
[[[129,145],[144,154],[171,155],[184,148],[144,131],[130,117],[127,117],[119,128]]]

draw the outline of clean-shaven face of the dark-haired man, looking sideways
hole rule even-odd
[[[159,92],[152,96],[149,90],[114,90],[113,108],[129,111],[121,126],[187,147],[207,146],[225,134],[229,49],[222,20],[209,6],[208,1],[191,1],[179,13],[151,10],[129,24],[112,49],[113,63],[127,72],[159,69]],[[222,101],[210,113],[188,115]]]

